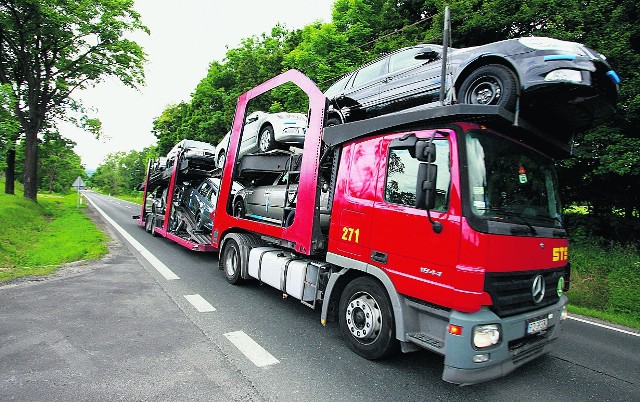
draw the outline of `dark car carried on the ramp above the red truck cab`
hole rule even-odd
[[[325,92],[327,125],[440,105],[442,57],[442,46],[421,44],[343,76]],[[543,128],[548,122],[568,131],[590,128],[615,112],[620,79],[602,54],[578,43],[524,37],[450,48],[447,59],[448,104],[519,108]]]

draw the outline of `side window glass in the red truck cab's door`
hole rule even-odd
[[[438,177],[436,179],[435,211],[446,212],[449,209],[449,187],[451,172],[449,169],[449,142],[435,140],[436,165]],[[420,163],[414,159],[406,149],[390,149],[387,163],[387,181],[384,198],[391,204],[413,207],[416,202],[416,180]]]

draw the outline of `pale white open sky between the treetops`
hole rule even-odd
[[[146,84],[138,90],[107,78],[74,98],[102,122],[103,135],[60,123],[60,133],[76,142],[75,152],[93,170],[109,153],[141,151],[154,145],[153,120],[167,105],[188,102],[207,74],[209,63],[222,61],[243,38],[270,33],[280,23],[288,29],[331,21],[334,0],[135,0],[151,35],[130,39],[147,53]],[[231,122],[230,122],[231,124]]]

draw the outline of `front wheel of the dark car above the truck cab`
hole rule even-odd
[[[507,67],[490,64],[473,71],[458,90],[458,103],[498,105],[513,112],[517,83]]]

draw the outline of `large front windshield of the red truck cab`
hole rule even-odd
[[[553,160],[486,131],[468,132],[465,143],[470,221],[488,232],[502,232],[498,222],[533,235],[535,227],[562,228]]]

